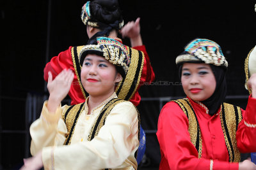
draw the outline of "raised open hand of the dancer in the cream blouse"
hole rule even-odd
[[[67,96],[71,83],[74,79],[74,73],[70,69],[61,71],[54,80],[52,80],[52,73],[49,72],[47,89],[49,91],[49,101],[47,108],[50,112],[55,112],[61,101]]]

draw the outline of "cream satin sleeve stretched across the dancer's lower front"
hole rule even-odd
[[[106,118],[99,134],[92,141],[42,150],[45,169],[104,169],[115,168],[136,159],[131,158],[139,146],[138,113],[130,102],[116,104]],[[126,159],[126,160],[125,160]],[[53,161],[53,162],[51,162]],[[133,167],[132,167],[133,169]]]

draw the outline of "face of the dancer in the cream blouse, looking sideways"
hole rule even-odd
[[[122,80],[116,67],[99,55],[88,54],[81,69],[81,82],[90,96],[113,94],[115,84]]]

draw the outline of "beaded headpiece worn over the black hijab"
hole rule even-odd
[[[176,64],[183,62],[205,62],[215,66],[228,67],[220,46],[209,39],[195,39],[185,48],[184,52],[176,58]]]

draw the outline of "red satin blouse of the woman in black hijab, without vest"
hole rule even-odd
[[[202,157],[198,159],[196,150],[188,131],[188,117],[175,102],[164,105],[158,120],[157,139],[161,149],[159,169],[238,169],[238,163],[230,163],[220,114],[212,117],[206,114],[205,108],[189,99],[195,110],[202,135]],[[220,109],[217,113],[220,113]],[[236,131],[237,148],[240,153],[256,151],[256,128],[246,126],[256,124],[256,99],[248,99],[246,111],[242,110],[243,119]],[[235,119],[236,117],[234,117]]]

